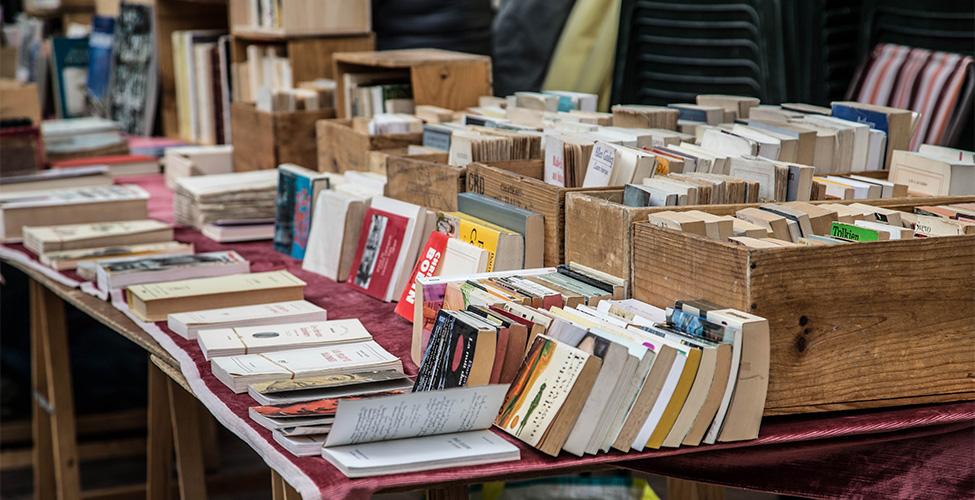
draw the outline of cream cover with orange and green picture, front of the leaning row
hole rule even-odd
[[[589,355],[550,338],[532,344],[495,425],[536,446],[566,402]]]

